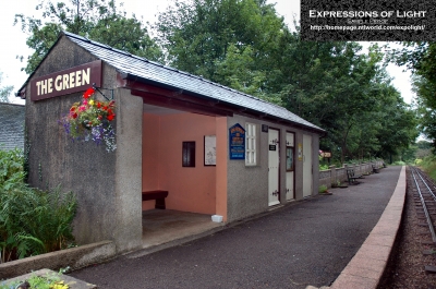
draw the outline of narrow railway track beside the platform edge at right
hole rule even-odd
[[[410,167],[409,189],[413,192],[416,217],[419,219],[419,240],[423,254],[429,264],[436,260],[436,185],[419,168]],[[425,265],[425,273],[436,274],[435,265]]]

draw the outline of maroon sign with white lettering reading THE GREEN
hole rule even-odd
[[[83,92],[93,83],[101,86],[101,60],[58,71],[31,81],[31,100]]]

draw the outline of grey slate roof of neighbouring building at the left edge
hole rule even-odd
[[[24,148],[25,111],[23,105],[0,103],[0,149]]]

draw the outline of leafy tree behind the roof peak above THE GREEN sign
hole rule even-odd
[[[61,31],[71,32],[107,44],[136,56],[162,61],[162,52],[148,36],[147,28],[135,15],[126,17],[113,0],[70,0],[70,3],[41,1],[36,10],[43,10],[43,19],[15,15],[23,32],[29,34],[27,46],[35,49],[24,69],[32,73],[58,39]]]

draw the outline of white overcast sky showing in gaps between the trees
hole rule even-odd
[[[13,85],[13,92],[17,92],[27,80],[27,74],[21,71],[26,63],[21,62],[16,57],[32,55],[32,50],[26,45],[28,35],[21,31],[20,25],[13,25],[15,14],[24,14],[26,16],[41,17],[41,11],[35,10],[37,3],[41,0],[0,0],[0,38],[3,39],[0,47],[0,72],[3,73],[1,87]],[[45,0],[47,1],[47,0]],[[68,2],[69,0],[64,0]],[[57,0],[52,0],[57,2]],[[134,13],[136,17],[145,22],[154,23],[157,21],[156,14],[164,12],[166,8],[172,3],[172,0],[118,0],[117,3],[123,2],[124,10],[128,15]],[[268,3],[276,3],[276,11],[284,17],[288,26],[292,26],[293,16],[300,19],[300,1],[299,0],[267,0]],[[362,43],[364,47],[368,47],[370,43]],[[410,104],[413,98],[410,84],[410,73],[403,72],[402,68],[393,64],[388,67],[389,74],[393,77],[393,86],[401,93],[404,101]],[[17,97],[11,96],[10,100],[15,104],[24,104]]]

